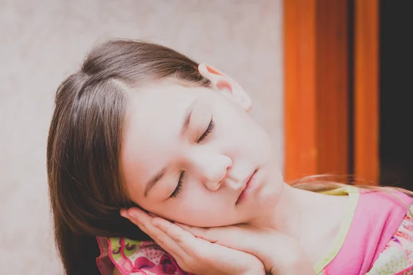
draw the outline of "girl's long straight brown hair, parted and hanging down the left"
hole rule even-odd
[[[142,41],[113,40],[89,52],[56,92],[47,140],[47,177],[56,245],[66,274],[98,274],[96,236],[149,236],[120,217],[125,195],[119,155],[128,94],[164,78],[210,87],[198,63]]]

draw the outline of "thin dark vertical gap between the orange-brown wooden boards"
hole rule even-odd
[[[348,175],[354,175],[354,0],[348,1],[348,46],[347,47],[348,47]]]

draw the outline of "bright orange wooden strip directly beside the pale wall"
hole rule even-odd
[[[284,1],[284,177],[317,173],[316,1]]]

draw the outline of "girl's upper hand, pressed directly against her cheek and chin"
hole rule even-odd
[[[197,228],[176,224],[198,238],[257,256],[271,274],[315,274],[297,241],[271,228],[252,225]]]

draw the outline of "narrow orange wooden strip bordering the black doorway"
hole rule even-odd
[[[354,175],[379,181],[379,1],[354,2]]]

